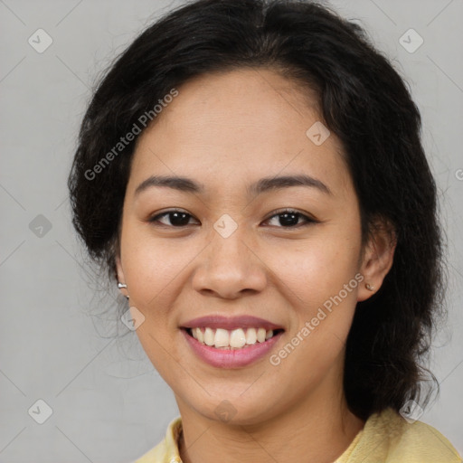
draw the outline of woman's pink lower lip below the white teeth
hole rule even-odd
[[[181,331],[187,343],[194,350],[194,353],[207,364],[211,364],[217,368],[240,368],[241,366],[256,362],[269,352],[283,334],[281,331],[264,343],[256,342],[256,344],[243,347],[242,349],[216,349],[210,345],[203,345],[194,339],[193,336],[188,335],[186,330],[182,329]]]

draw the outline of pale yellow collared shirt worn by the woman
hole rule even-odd
[[[181,463],[180,417],[171,421],[165,439],[134,463]],[[461,463],[457,450],[438,430],[421,421],[409,423],[387,409],[366,420],[345,452],[334,463]]]

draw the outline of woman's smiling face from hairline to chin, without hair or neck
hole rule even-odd
[[[178,91],[138,140],[123,209],[139,340],[181,412],[254,423],[327,400],[373,278],[342,146],[307,136],[315,100],[276,72]]]

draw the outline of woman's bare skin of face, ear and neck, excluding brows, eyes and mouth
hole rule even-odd
[[[370,298],[391,269],[392,241],[380,229],[362,247],[342,146],[334,134],[321,146],[308,139],[321,117],[300,84],[247,69],[201,76],[178,90],[138,139],[117,269],[128,285],[122,293],[145,317],[138,338],[175,393],[181,457],[332,462],[364,426],[345,402],[345,340],[356,302]],[[301,185],[247,193],[261,177],[300,174],[331,194]],[[153,186],[136,195],[150,175],[185,176],[204,192]],[[172,208],[190,214],[189,224],[175,227],[172,215],[149,222]],[[276,215],[288,208],[302,214],[291,222],[297,225],[285,226]],[[213,228],[224,213],[238,226],[228,238]],[[304,225],[304,215],[317,222]],[[364,282],[279,365],[270,364],[269,355],[357,273]],[[179,326],[217,314],[262,317],[285,333],[258,362],[215,368],[194,354]],[[228,422],[214,412],[222,401],[234,409]]]

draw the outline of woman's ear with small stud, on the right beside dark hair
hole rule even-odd
[[[392,267],[397,236],[392,223],[377,218],[371,226],[370,236],[364,245],[360,273],[364,284],[359,287],[357,301],[371,298],[383,285],[383,280]],[[370,289],[366,288],[369,285]]]

